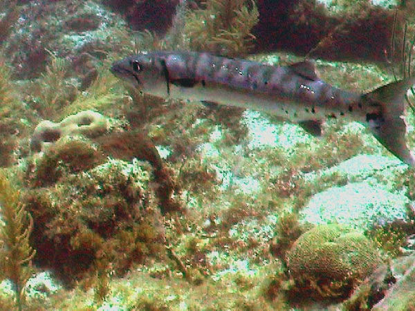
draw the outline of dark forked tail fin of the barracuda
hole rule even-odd
[[[405,141],[405,94],[415,84],[415,77],[393,82],[362,95],[376,113],[367,113],[367,122],[376,139],[403,162],[415,166],[415,158]]]

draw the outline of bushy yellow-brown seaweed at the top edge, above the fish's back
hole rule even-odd
[[[255,39],[250,32],[258,21],[254,1],[208,0],[205,10],[189,11],[185,35],[192,50],[237,56],[248,53]]]

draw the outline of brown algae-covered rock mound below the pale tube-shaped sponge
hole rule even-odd
[[[107,273],[102,269],[109,269],[109,265],[111,272],[121,276],[133,263],[145,263],[150,256],[162,257],[164,249],[160,212],[149,188],[149,167],[108,160],[89,169],[85,156],[63,158],[65,148],[75,151],[77,144],[82,146],[82,141],[62,142],[57,151],[46,151],[35,168],[39,178],[46,180],[39,185],[36,178],[24,196],[33,215],[35,261],[53,267],[69,286],[89,279],[87,276],[94,272]],[[97,160],[93,152],[91,164]],[[57,156],[67,162],[57,162]],[[52,164],[50,169],[46,164]],[[55,172],[60,167],[67,173],[53,180],[52,171],[48,180],[42,171],[54,167]]]

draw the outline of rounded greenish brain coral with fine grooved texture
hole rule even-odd
[[[380,254],[363,234],[340,225],[319,225],[302,234],[288,252],[288,269],[297,290],[317,296],[348,296],[380,263]]]

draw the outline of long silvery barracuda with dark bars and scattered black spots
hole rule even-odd
[[[111,71],[142,93],[265,111],[314,135],[326,118],[365,124],[403,162],[415,158],[405,142],[405,93],[415,77],[353,93],[322,81],[312,62],[269,66],[208,53],[152,52],[114,62]]]

